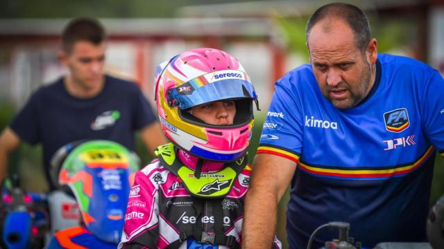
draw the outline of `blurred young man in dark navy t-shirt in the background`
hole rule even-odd
[[[8,154],[22,141],[42,144],[48,180],[51,157],[68,142],[113,140],[134,149],[137,130],[149,153],[167,142],[136,84],[104,75],[105,48],[105,30],[99,21],[82,18],[67,25],[59,58],[69,74],[33,93],[1,133],[0,181],[5,176]]]

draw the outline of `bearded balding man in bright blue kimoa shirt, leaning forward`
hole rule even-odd
[[[246,196],[243,248],[270,247],[289,184],[290,248],[306,248],[330,221],[350,223],[365,247],[426,241],[434,155],[444,156],[443,77],[414,59],[378,55],[366,15],[350,4],[316,10],[306,38],[310,64],[275,84]],[[314,248],[334,237],[323,230]]]

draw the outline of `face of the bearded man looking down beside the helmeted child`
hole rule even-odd
[[[311,28],[307,44],[314,76],[327,100],[336,108],[348,109],[366,98],[373,86],[370,65],[376,62],[376,40],[364,55],[352,30],[343,21],[329,19]]]

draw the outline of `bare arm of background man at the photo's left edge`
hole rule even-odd
[[[22,140],[9,127],[6,127],[0,135],[0,183],[6,176],[8,168],[8,155],[19,147]]]

